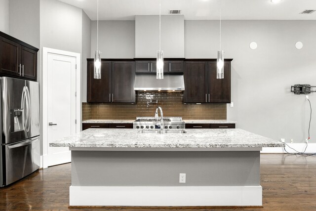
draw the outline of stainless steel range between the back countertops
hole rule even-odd
[[[160,128],[160,118],[155,117],[136,117],[133,122],[134,129],[158,129]],[[163,126],[165,129],[184,129],[185,122],[182,117],[163,117]]]

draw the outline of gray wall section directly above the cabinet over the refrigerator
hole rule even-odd
[[[40,0],[9,1],[9,34],[40,48]]]

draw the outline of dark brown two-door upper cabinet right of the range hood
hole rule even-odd
[[[184,103],[230,103],[231,60],[224,62],[224,79],[216,79],[216,59],[185,61]]]

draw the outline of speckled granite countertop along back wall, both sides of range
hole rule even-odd
[[[82,123],[133,123],[135,120],[85,120]],[[231,120],[183,120],[185,123],[196,124],[236,124]]]

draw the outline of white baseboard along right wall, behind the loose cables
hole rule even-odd
[[[286,143],[288,146],[297,150],[298,152],[304,152],[306,147],[305,143]],[[295,153],[294,150],[285,146],[285,149],[289,153]],[[306,148],[306,153],[316,153],[316,143],[309,143]],[[286,153],[283,147],[263,147],[261,153]]]

